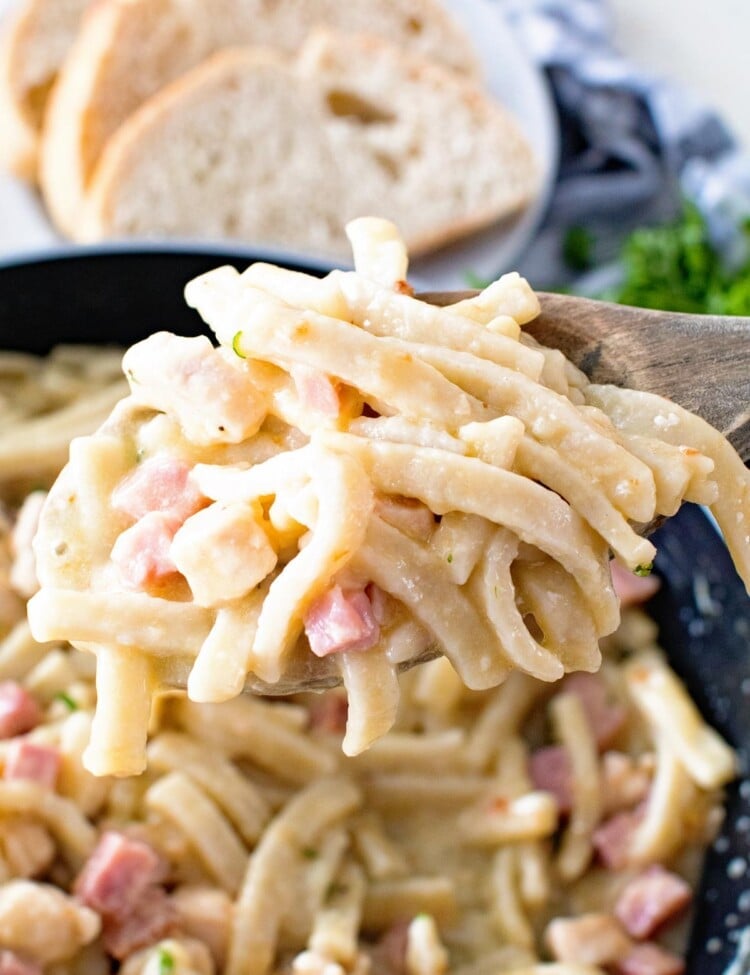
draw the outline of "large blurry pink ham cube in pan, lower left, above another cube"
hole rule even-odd
[[[105,917],[127,918],[159,875],[158,855],[146,843],[107,832],[78,875],[77,897]]]

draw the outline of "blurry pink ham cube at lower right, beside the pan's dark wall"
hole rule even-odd
[[[640,941],[684,911],[691,898],[692,891],[682,877],[657,864],[625,886],[615,904],[615,916]]]

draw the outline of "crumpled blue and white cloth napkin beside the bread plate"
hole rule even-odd
[[[726,259],[740,260],[750,159],[717,114],[618,52],[606,0],[500,2],[545,70],[561,121],[557,186],[525,273],[540,287],[566,280],[560,242],[581,224],[606,262],[631,229],[676,214],[681,197],[701,210]]]

